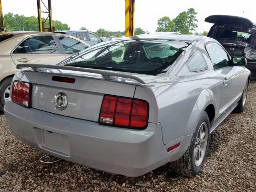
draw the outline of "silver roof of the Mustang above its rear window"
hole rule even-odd
[[[141,34],[137,36],[133,36],[131,38],[140,38],[140,39],[170,39],[170,40],[176,40],[176,41],[183,41],[191,43],[194,40],[204,38],[202,36],[196,36],[196,35],[176,35],[176,34]]]

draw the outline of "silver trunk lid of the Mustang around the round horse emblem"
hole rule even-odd
[[[17,76],[32,84],[32,108],[95,122],[98,121],[104,94],[132,98],[138,84],[135,80],[128,81],[125,78],[104,80],[100,74],[57,69],[23,71],[18,72]],[[75,82],[54,81],[52,76],[75,78]],[[67,96],[68,104],[64,110],[58,110],[54,103],[58,93]]]

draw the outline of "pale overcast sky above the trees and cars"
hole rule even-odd
[[[47,6],[47,0],[43,0]],[[135,0],[135,27],[154,32],[163,16],[175,18],[182,11],[194,8],[198,19],[197,32],[210,30],[204,18],[213,14],[242,16],[256,22],[255,0]],[[37,16],[36,0],[2,0],[3,13]],[[41,10],[46,10],[41,4]],[[42,14],[47,17],[46,14]],[[52,18],[68,24],[71,30],[84,26],[95,32],[99,28],[124,31],[125,0],[52,0]]]

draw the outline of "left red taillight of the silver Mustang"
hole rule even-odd
[[[12,84],[12,100],[23,106],[30,107],[31,87],[29,83],[14,81]]]

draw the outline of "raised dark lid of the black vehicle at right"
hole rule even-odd
[[[252,28],[253,23],[246,18],[230,15],[211,15],[205,18],[205,22],[214,24],[228,24],[233,26],[244,26]]]

